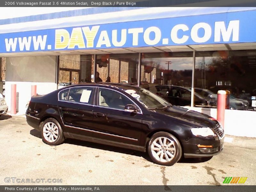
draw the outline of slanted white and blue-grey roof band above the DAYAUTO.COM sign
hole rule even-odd
[[[0,34],[250,10],[256,7],[95,7],[0,20]]]

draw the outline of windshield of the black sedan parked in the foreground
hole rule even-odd
[[[161,97],[140,87],[136,89],[127,89],[125,92],[132,95],[133,98],[140,101],[140,103],[148,109],[162,109],[171,106],[170,103]]]

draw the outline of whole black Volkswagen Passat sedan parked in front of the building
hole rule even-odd
[[[223,148],[224,132],[216,119],[128,84],[77,84],[33,96],[26,116],[46,144],[74,138],[148,151],[161,165],[181,156],[213,156]]]

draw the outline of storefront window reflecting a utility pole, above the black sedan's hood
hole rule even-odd
[[[141,54],[140,86],[173,105],[191,105],[193,52]]]

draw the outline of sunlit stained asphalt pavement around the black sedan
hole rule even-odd
[[[255,185],[256,138],[226,138],[217,156],[161,166],[146,153],[86,141],[46,145],[25,116],[5,115],[0,185],[241,185],[223,184],[226,177],[247,177],[243,185]]]

